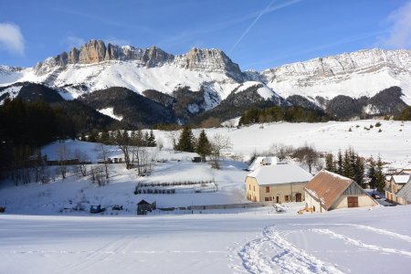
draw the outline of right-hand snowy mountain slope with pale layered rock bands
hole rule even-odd
[[[248,74],[255,77],[253,71]],[[270,68],[260,76],[284,98],[373,97],[381,90],[398,86],[404,93],[402,99],[411,104],[411,50],[360,50]]]

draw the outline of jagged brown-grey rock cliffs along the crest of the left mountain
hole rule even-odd
[[[174,57],[159,47],[139,48],[111,44],[106,47],[101,40],[90,40],[80,49],[73,47],[68,53],[63,52],[56,57],[47,58],[44,62],[38,63],[35,70],[37,74],[42,75],[68,64],[94,64],[110,60],[133,60],[147,68],[172,64],[179,68],[192,70],[225,72],[238,80],[244,78],[238,65],[218,49],[192,48],[188,53]]]

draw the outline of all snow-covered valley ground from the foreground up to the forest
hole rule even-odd
[[[377,121],[271,123],[240,129],[208,129],[227,134],[233,154],[268,151],[274,143],[313,143],[324,152],[350,145],[364,156],[381,156],[395,166],[410,162],[411,122]],[[358,127],[357,127],[358,125]],[[352,129],[349,132],[349,129]],[[199,132],[195,131],[195,134]],[[136,216],[141,199],[157,207],[246,203],[247,164],[225,160],[221,170],[192,163],[195,153],[168,149],[170,133],[154,131],[162,151],[150,148],[153,173],[139,177],[124,164],[110,164],[109,184],[91,184],[70,167],[61,180],[50,169],[48,184],[0,184],[0,273],[408,273],[411,268],[410,206],[340,209],[297,215],[274,208],[155,210]],[[54,142],[42,149],[57,157]],[[100,144],[67,141],[68,150],[100,161]],[[108,155],[122,157],[116,146]],[[90,166],[89,166],[90,168]],[[216,192],[134,195],[139,183],[216,182]],[[92,216],[90,205],[107,210]],[[122,205],[123,210],[111,210]],[[81,210],[82,209],[82,210]],[[193,213],[193,214],[192,214]]]

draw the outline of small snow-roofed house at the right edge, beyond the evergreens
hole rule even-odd
[[[411,202],[408,189],[411,187],[411,174],[400,174],[391,176],[389,184],[385,188],[385,198],[389,202],[407,205]],[[403,190],[403,188],[406,188]]]

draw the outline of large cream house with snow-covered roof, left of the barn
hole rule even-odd
[[[261,165],[246,178],[247,198],[253,202],[301,202],[312,175],[296,164]]]

